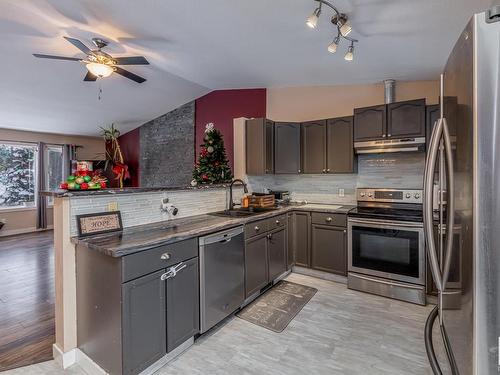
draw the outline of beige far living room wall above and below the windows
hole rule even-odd
[[[45,142],[56,144],[76,144],[83,146],[78,149],[79,159],[102,159],[104,157],[104,142],[99,137],[82,137],[62,134],[36,133],[0,128],[0,141]],[[52,226],[53,214],[47,212],[48,225]],[[33,231],[36,228],[36,210],[2,211],[0,219],[7,219],[7,224],[0,231],[0,236]]]

